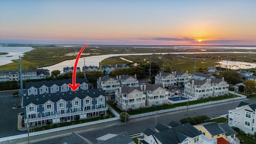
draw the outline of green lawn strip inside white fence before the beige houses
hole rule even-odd
[[[236,96],[235,97],[239,97]],[[218,97],[212,97],[212,98],[206,98],[206,99],[199,99],[199,100],[195,100],[195,101],[190,101],[188,102],[182,102],[182,103],[177,103],[177,104],[169,104],[169,105],[160,105],[160,106],[156,106],[156,107],[149,107],[149,108],[144,108],[144,109],[136,109],[136,110],[132,110],[131,112],[127,112],[130,115],[135,115],[135,114],[143,114],[143,113],[147,113],[147,112],[154,112],[154,111],[158,111],[158,110],[166,110],[166,109],[171,109],[171,108],[176,108],[176,107],[181,107],[181,106],[187,106],[189,105],[194,105],[194,104],[201,104],[201,103],[205,103],[205,102],[212,102],[212,101],[217,101],[217,100],[224,100],[224,99],[228,99],[228,98],[233,98],[233,94],[228,94],[228,96],[218,96]],[[116,112],[118,112],[120,114],[120,112],[123,112],[123,110],[120,110],[118,107],[113,105],[114,101],[108,101],[107,104],[109,106],[111,106],[114,110],[116,110]]]

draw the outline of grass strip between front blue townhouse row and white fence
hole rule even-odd
[[[52,128],[60,128],[60,127],[63,127],[63,126],[70,126],[70,125],[74,125],[74,124],[82,124],[82,123],[85,123],[85,122],[93,122],[93,121],[96,121],[96,120],[103,120],[103,119],[106,119],[106,118],[114,118],[114,114],[112,114],[109,110],[107,110],[107,116],[99,116],[99,117],[93,117],[93,118],[86,118],[86,119],[81,119],[81,120],[74,120],[74,121],[71,121],[71,122],[62,122],[62,123],[58,123],[58,124],[50,124],[50,125],[47,125],[47,126],[42,126],[42,127],[37,127],[37,128],[34,128],[34,132],[38,132],[38,131],[41,131],[41,130],[49,130],[49,129],[52,129]]]

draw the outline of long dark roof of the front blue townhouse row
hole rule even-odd
[[[33,103],[36,105],[44,104],[48,100],[51,102],[58,102],[60,99],[65,101],[74,100],[74,98],[84,99],[86,96],[90,98],[98,98],[99,96],[107,96],[107,94],[102,90],[102,88],[90,89],[90,90],[78,90],[78,91],[68,91],[68,92],[57,92],[52,94],[39,94],[24,96],[23,106],[28,106]]]

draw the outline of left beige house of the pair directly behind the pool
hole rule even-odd
[[[155,76],[155,84],[166,86],[176,86],[177,78],[168,72],[159,72]]]

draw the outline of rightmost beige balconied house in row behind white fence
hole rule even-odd
[[[207,80],[206,80],[207,81]],[[213,92],[213,96],[223,96],[228,94],[228,83],[226,81],[224,81],[224,78],[222,79],[208,79],[208,82],[210,84],[212,84],[212,92]]]

